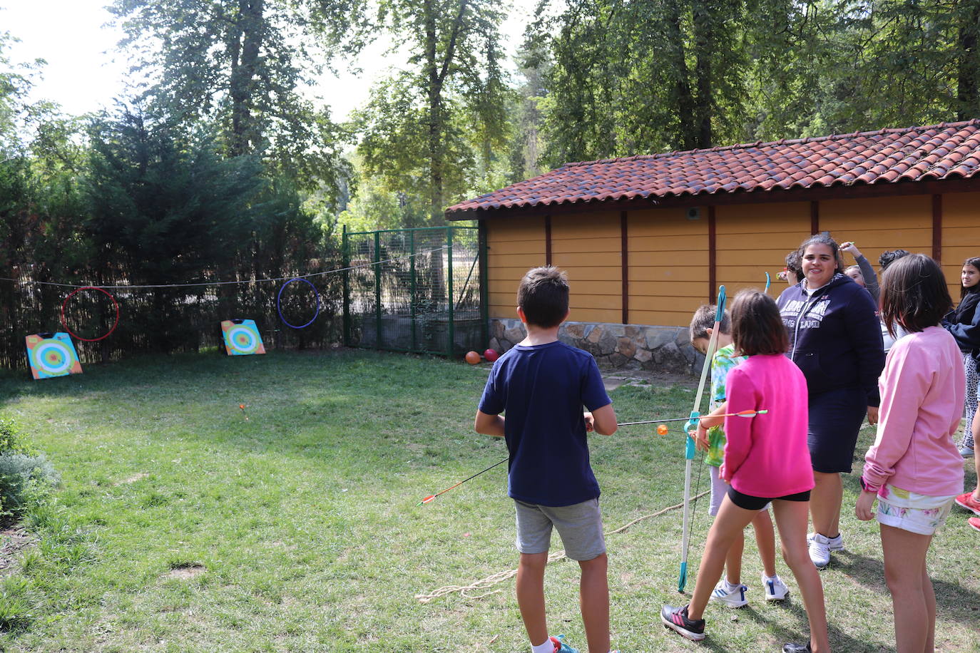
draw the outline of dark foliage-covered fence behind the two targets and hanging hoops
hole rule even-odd
[[[339,271],[329,273],[342,267],[340,258],[334,248],[319,258],[270,260],[261,267],[243,265],[238,270],[225,271],[227,276],[223,278],[208,270],[194,280],[212,285],[129,288],[133,280],[124,273],[97,277],[99,288],[108,289],[112,298],[96,290],[73,294],[76,288],[41,280],[82,285],[87,279],[39,275],[25,266],[26,270],[19,271],[13,281],[0,280],[0,368],[27,366],[25,336],[69,329],[82,365],[123,360],[141,353],[216,347],[223,355],[221,320],[232,318],[254,319],[267,349],[329,347],[341,337],[338,313],[342,275]],[[307,275],[314,288],[293,283],[283,291],[282,280],[227,283],[236,277],[299,275]],[[219,281],[225,283],[219,285]],[[113,298],[119,305],[118,319]],[[276,310],[277,300],[282,318]],[[318,301],[317,319],[306,328],[291,329],[283,324],[283,319],[297,325],[306,323],[314,316]],[[111,336],[103,340],[81,340],[99,339],[110,329]]]

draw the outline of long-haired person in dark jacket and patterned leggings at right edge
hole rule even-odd
[[[977,386],[980,374],[974,356],[980,352],[980,257],[967,258],[959,274],[959,305],[943,318],[943,328],[953,334],[956,345],[963,354],[966,370],[966,426],[963,427],[963,443],[959,453],[968,458],[973,455],[973,436],[970,427],[977,412]]]

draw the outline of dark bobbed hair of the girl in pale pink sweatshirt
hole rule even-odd
[[[906,331],[922,331],[952,308],[943,268],[924,254],[899,257],[881,275],[881,319],[893,337],[896,322]]]

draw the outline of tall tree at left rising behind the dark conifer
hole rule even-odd
[[[157,113],[186,130],[217,122],[226,156],[261,155],[302,186],[337,187],[346,136],[300,88],[361,46],[362,0],[115,0],[110,10]]]

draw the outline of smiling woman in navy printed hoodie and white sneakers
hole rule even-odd
[[[885,366],[881,329],[871,296],[841,272],[829,234],[800,246],[804,279],[779,296],[789,331],[790,357],[807,378],[809,455],[815,487],[810,495],[813,535],[809,557],[822,569],[830,552],[844,549],[840,534],[844,484],[851,472],[858,430],[867,415],[878,421],[878,375]]]

